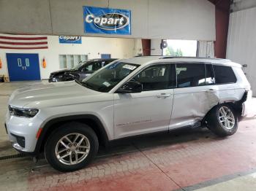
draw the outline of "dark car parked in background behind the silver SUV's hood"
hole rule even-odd
[[[84,61],[75,66],[72,69],[64,69],[59,71],[53,71],[50,73],[49,82],[63,82],[78,80],[82,81],[86,77],[89,77],[94,71],[101,69],[103,66],[106,66],[108,63],[116,61],[116,58],[108,59],[92,59],[89,61]]]

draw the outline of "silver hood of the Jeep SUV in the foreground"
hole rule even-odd
[[[78,104],[79,101],[94,101],[102,93],[90,90],[77,82],[57,82],[48,85],[33,85],[15,90],[9,104],[15,107],[40,108]],[[82,98],[83,97],[83,98]],[[86,98],[85,98],[86,97]]]

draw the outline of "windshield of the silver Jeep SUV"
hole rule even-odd
[[[138,64],[115,62],[97,74],[94,74],[89,79],[83,79],[82,85],[91,90],[99,92],[108,92],[115,87],[118,82],[127,77],[132,71],[138,68]]]

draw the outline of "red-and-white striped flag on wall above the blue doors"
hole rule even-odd
[[[1,49],[47,49],[47,36],[24,34],[0,34]]]

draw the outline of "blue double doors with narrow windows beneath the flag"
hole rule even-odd
[[[7,53],[10,81],[40,80],[38,54]]]

